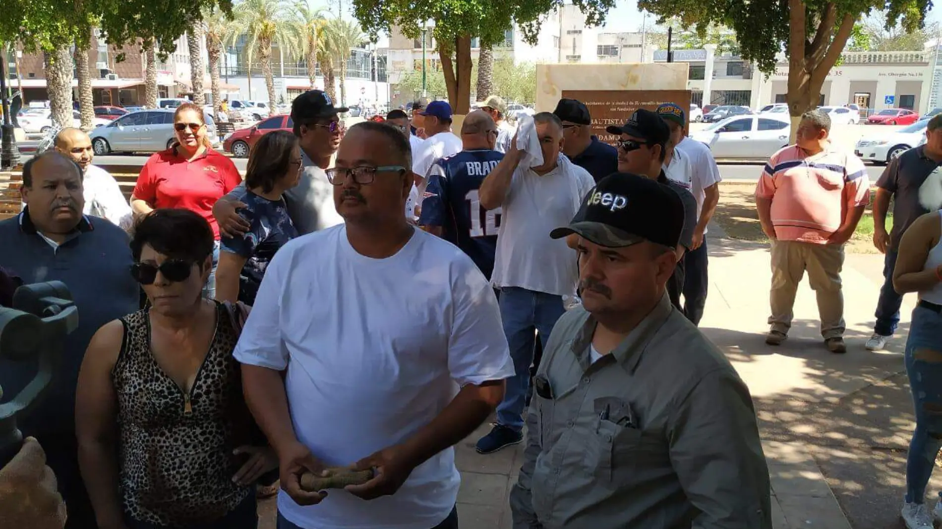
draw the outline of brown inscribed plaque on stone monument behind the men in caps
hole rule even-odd
[[[592,133],[614,145],[618,136],[605,131],[609,125],[623,125],[635,110],[657,110],[658,105],[674,103],[690,111],[690,90],[562,90],[562,97],[576,99],[589,107]],[[690,116],[688,116],[690,118]]]

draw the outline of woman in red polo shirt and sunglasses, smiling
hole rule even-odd
[[[203,216],[216,236],[213,270],[203,291],[216,296],[216,265],[219,263],[219,224],[213,217],[213,204],[235,186],[242,177],[232,160],[213,151],[206,137],[203,109],[187,103],[173,113],[176,143],[167,151],[157,152],[144,164],[131,196],[135,214],[154,209],[183,208]]]

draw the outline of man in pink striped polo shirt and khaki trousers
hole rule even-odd
[[[824,344],[832,353],[847,352],[840,269],[844,243],[869,202],[869,179],[859,158],[830,142],[830,130],[827,114],[806,112],[796,144],[772,154],[755,186],[759,222],[771,239],[769,345],[788,338],[795,293],[807,270]]]

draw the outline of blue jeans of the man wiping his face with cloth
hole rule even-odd
[[[524,427],[529,367],[533,362],[533,331],[540,332],[540,342],[545,349],[553,326],[565,309],[561,296],[519,287],[504,287],[501,291],[500,319],[504,323],[507,343],[511,346],[515,375],[507,379],[504,400],[497,406],[497,423],[520,431]]]

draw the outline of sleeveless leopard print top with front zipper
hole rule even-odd
[[[244,462],[233,450],[251,441],[253,426],[232,320],[217,303],[216,332],[186,395],[154,361],[148,313],[121,319],[124,341],[111,372],[124,513],[158,525],[219,520],[251,491],[232,481]]]

